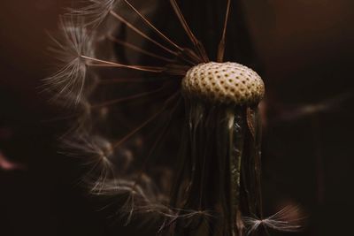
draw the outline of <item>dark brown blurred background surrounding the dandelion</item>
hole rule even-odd
[[[217,4],[180,2],[189,20],[200,4]],[[266,215],[298,205],[304,231],[283,235],[353,234],[354,2],[235,2],[237,34],[230,34],[247,42],[266,79]],[[68,5],[0,4],[0,235],[119,234],[79,187],[78,161],[58,155],[57,140],[68,124],[41,93],[52,64],[47,32],[56,31]]]

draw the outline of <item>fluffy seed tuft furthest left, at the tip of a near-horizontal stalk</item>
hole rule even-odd
[[[94,54],[91,38],[86,28],[81,27],[82,19],[62,18],[60,39],[51,36],[55,46],[51,50],[58,58],[60,69],[46,78],[44,85],[56,93],[53,99],[65,98],[65,102],[80,103],[87,79],[87,65],[82,56]]]

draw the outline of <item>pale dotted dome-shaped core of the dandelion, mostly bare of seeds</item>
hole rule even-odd
[[[237,63],[205,63],[192,67],[182,80],[184,95],[216,103],[258,104],[265,84],[257,72]]]

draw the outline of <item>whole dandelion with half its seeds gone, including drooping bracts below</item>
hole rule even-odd
[[[127,224],[148,215],[160,234],[243,235],[247,217],[263,218],[258,103],[264,82],[247,66],[224,60],[231,0],[215,62],[179,4],[170,4],[190,48],[127,0],[92,0],[62,19],[65,42],[54,41],[66,64],[46,85],[83,110],[65,147],[92,166],[86,178],[92,194],[122,199]],[[151,47],[130,41],[130,34]],[[141,65],[142,57],[152,65]],[[272,227],[273,218],[254,220],[252,231]]]

